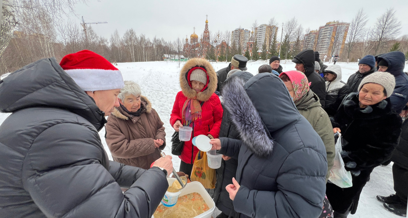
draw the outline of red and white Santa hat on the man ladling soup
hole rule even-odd
[[[65,55],[60,66],[84,91],[124,87],[120,70],[93,51],[82,50]]]

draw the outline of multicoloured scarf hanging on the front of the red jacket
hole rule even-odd
[[[183,126],[192,126],[196,121],[201,124],[201,105],[197,97],[187,99],[182,110]]]

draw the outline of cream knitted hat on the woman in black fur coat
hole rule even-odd
[[[384,87],[387,92],[387,98],[391,96],[395,88],[395,77],[387,72],[375,72],[361,80],[360,85],[358,86],[358,91],[361,90],[361,87],[366,83],[376,83]]]

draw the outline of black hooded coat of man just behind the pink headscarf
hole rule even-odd
[[[326,80],[315,71],[315,53],[312,49],[299,52],[294,59],[302,62],[305,68],[304,74],[310,84],[310,89],[319,97],[319,102],[324,108],[326,99]]]

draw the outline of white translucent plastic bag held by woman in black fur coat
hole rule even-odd
[[[352,178],[350,171],[346,171],[344,168],[344,162],[341,158],[340,153],[343,151],[341,148],[341,134],[339,133],[339,138],[336,143],[336,156],[334,158],[334,164],[330,170],[329,181],[338,187],[348,188],[352,187]]]

